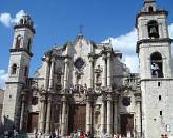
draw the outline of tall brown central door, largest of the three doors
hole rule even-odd
[[[85,131],[86,105],[73,104],[69,107],[68,132]]]

